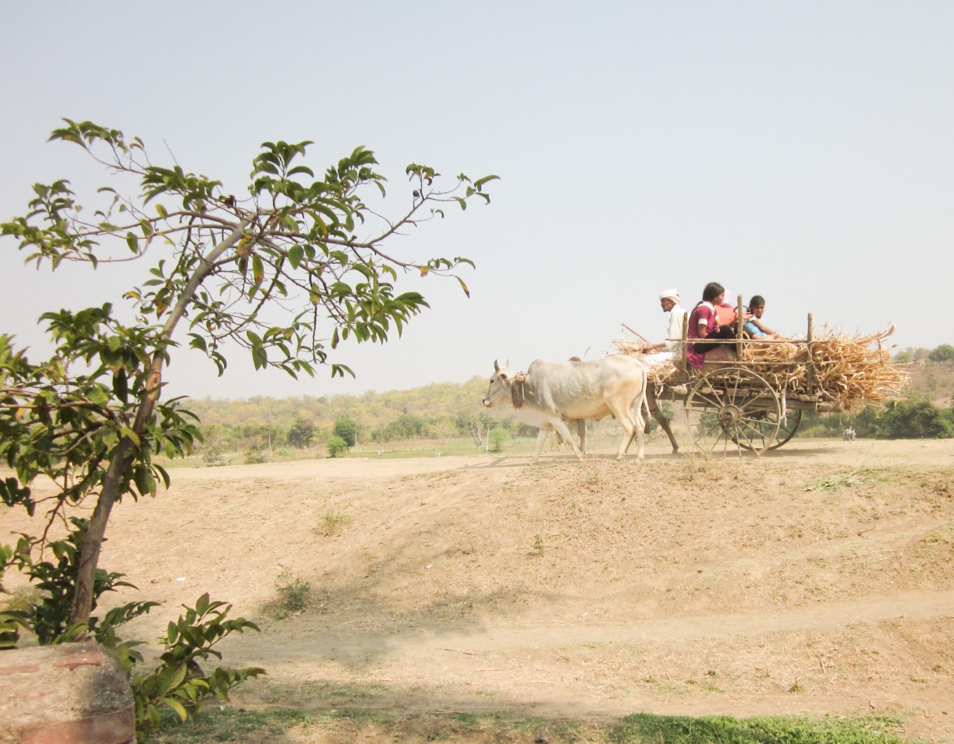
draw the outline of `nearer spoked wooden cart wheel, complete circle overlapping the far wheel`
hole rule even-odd
[[[780,421],[775,390],[741,367],[709,372],[686,398],[686,430],[706,457],[743,450],[760,455],[775,442]]]

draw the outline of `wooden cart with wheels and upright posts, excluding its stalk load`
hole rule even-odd
[[[742,318],[742,298],[738,297],[738,318]],[[776,449],[795,436],[801,424],[802,411],[842,411],[841,403],[826,396],[819,384],[819,374],[813,354],[812,316],[808,316],[808,333],[803,340],[751,340],[742,336],[738,323],[736,341],[723,341],[735,346],[736,360],[707,361],[696,369],[687,361],[689,350],[689,315],[682,323],[682,344],[674,359],[676,374],[656,392],[656,398],[679,401],[685,406],[686,431],[703,455],[741,455],[752,452],[760,455]],[[742,359],[744,344],[789,343],[804,346],[806,353],[798,362],[747,362]],[[800,358],[803,357],[803,361]],[[755,371],[766,364],[805,367],[804,382],[798,391],[778,389]]]

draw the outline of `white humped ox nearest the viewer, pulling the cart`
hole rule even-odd
[[[513,373],[493,362],[493,377],[484,405],[512,409],[515,419],[538,426],[533,463],[551,429],[572,444],[576,456],[583,452],[573,442],[568,421],[602,419],[613,416],[623,427],[623,440],[616,459],[626,458],[626,450],[638,442],[637,457],[643,459],[642,407],[646,400],[646,370],[631,357],[622,355],[592,362],[530,362],[527,372]]]

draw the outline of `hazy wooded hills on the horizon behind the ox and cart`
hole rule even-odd
[[[909,363],[907,400],[886,408],[870,407],[853,416],[809,416],[799,435],[838,436],[852,425],[860,436],[954,436],[954,347],[904,349],[896,360]],[[245,401],[191,399],[187,406],[201,421],[209,443],[255,450],[270,445],[307,447],[327,444],[369,444],[453,437],[486,437],[490,429],[511,436],[532,436],[535,429],[491,414],[481,404],[487,379],[435,382],[412,390],[330,397],[255,396]],[[667,414],[673,409],[668,407]],[[337,425],[336,425],[337,424]]]

